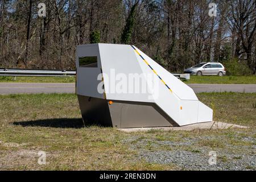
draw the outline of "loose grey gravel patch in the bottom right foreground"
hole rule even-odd
[[[218,154],[217,154],[218,156]],[[140,152],[139,158],[149,163],[170,164],[173,163],[185,170],[255,170],[256,156],[225,156],[217,157],[216,165],[208,163],[209,156],[189,151],[144,151]]]

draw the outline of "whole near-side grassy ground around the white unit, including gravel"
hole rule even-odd
[[[0,96],[0,169],[253,169],[256,94],[201,93],[214,119],[249,129],[122,133],[84,126],[75,94]],[[217,166],[209,166],[209,151]],[[38,152],[46,151],[46,165]]]

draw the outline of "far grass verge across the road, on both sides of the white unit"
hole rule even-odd
[[[0,82],[75,82],[75,77],[1,77]],[[256,76],[191,76],[186,84],[256,84]]]

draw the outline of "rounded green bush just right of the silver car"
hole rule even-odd
[[[249,76],[252,75],[250,68],[242,61],[237,59],[229,59],[224,62],[224,67],[226,68],[227,75],[233,76]]]

